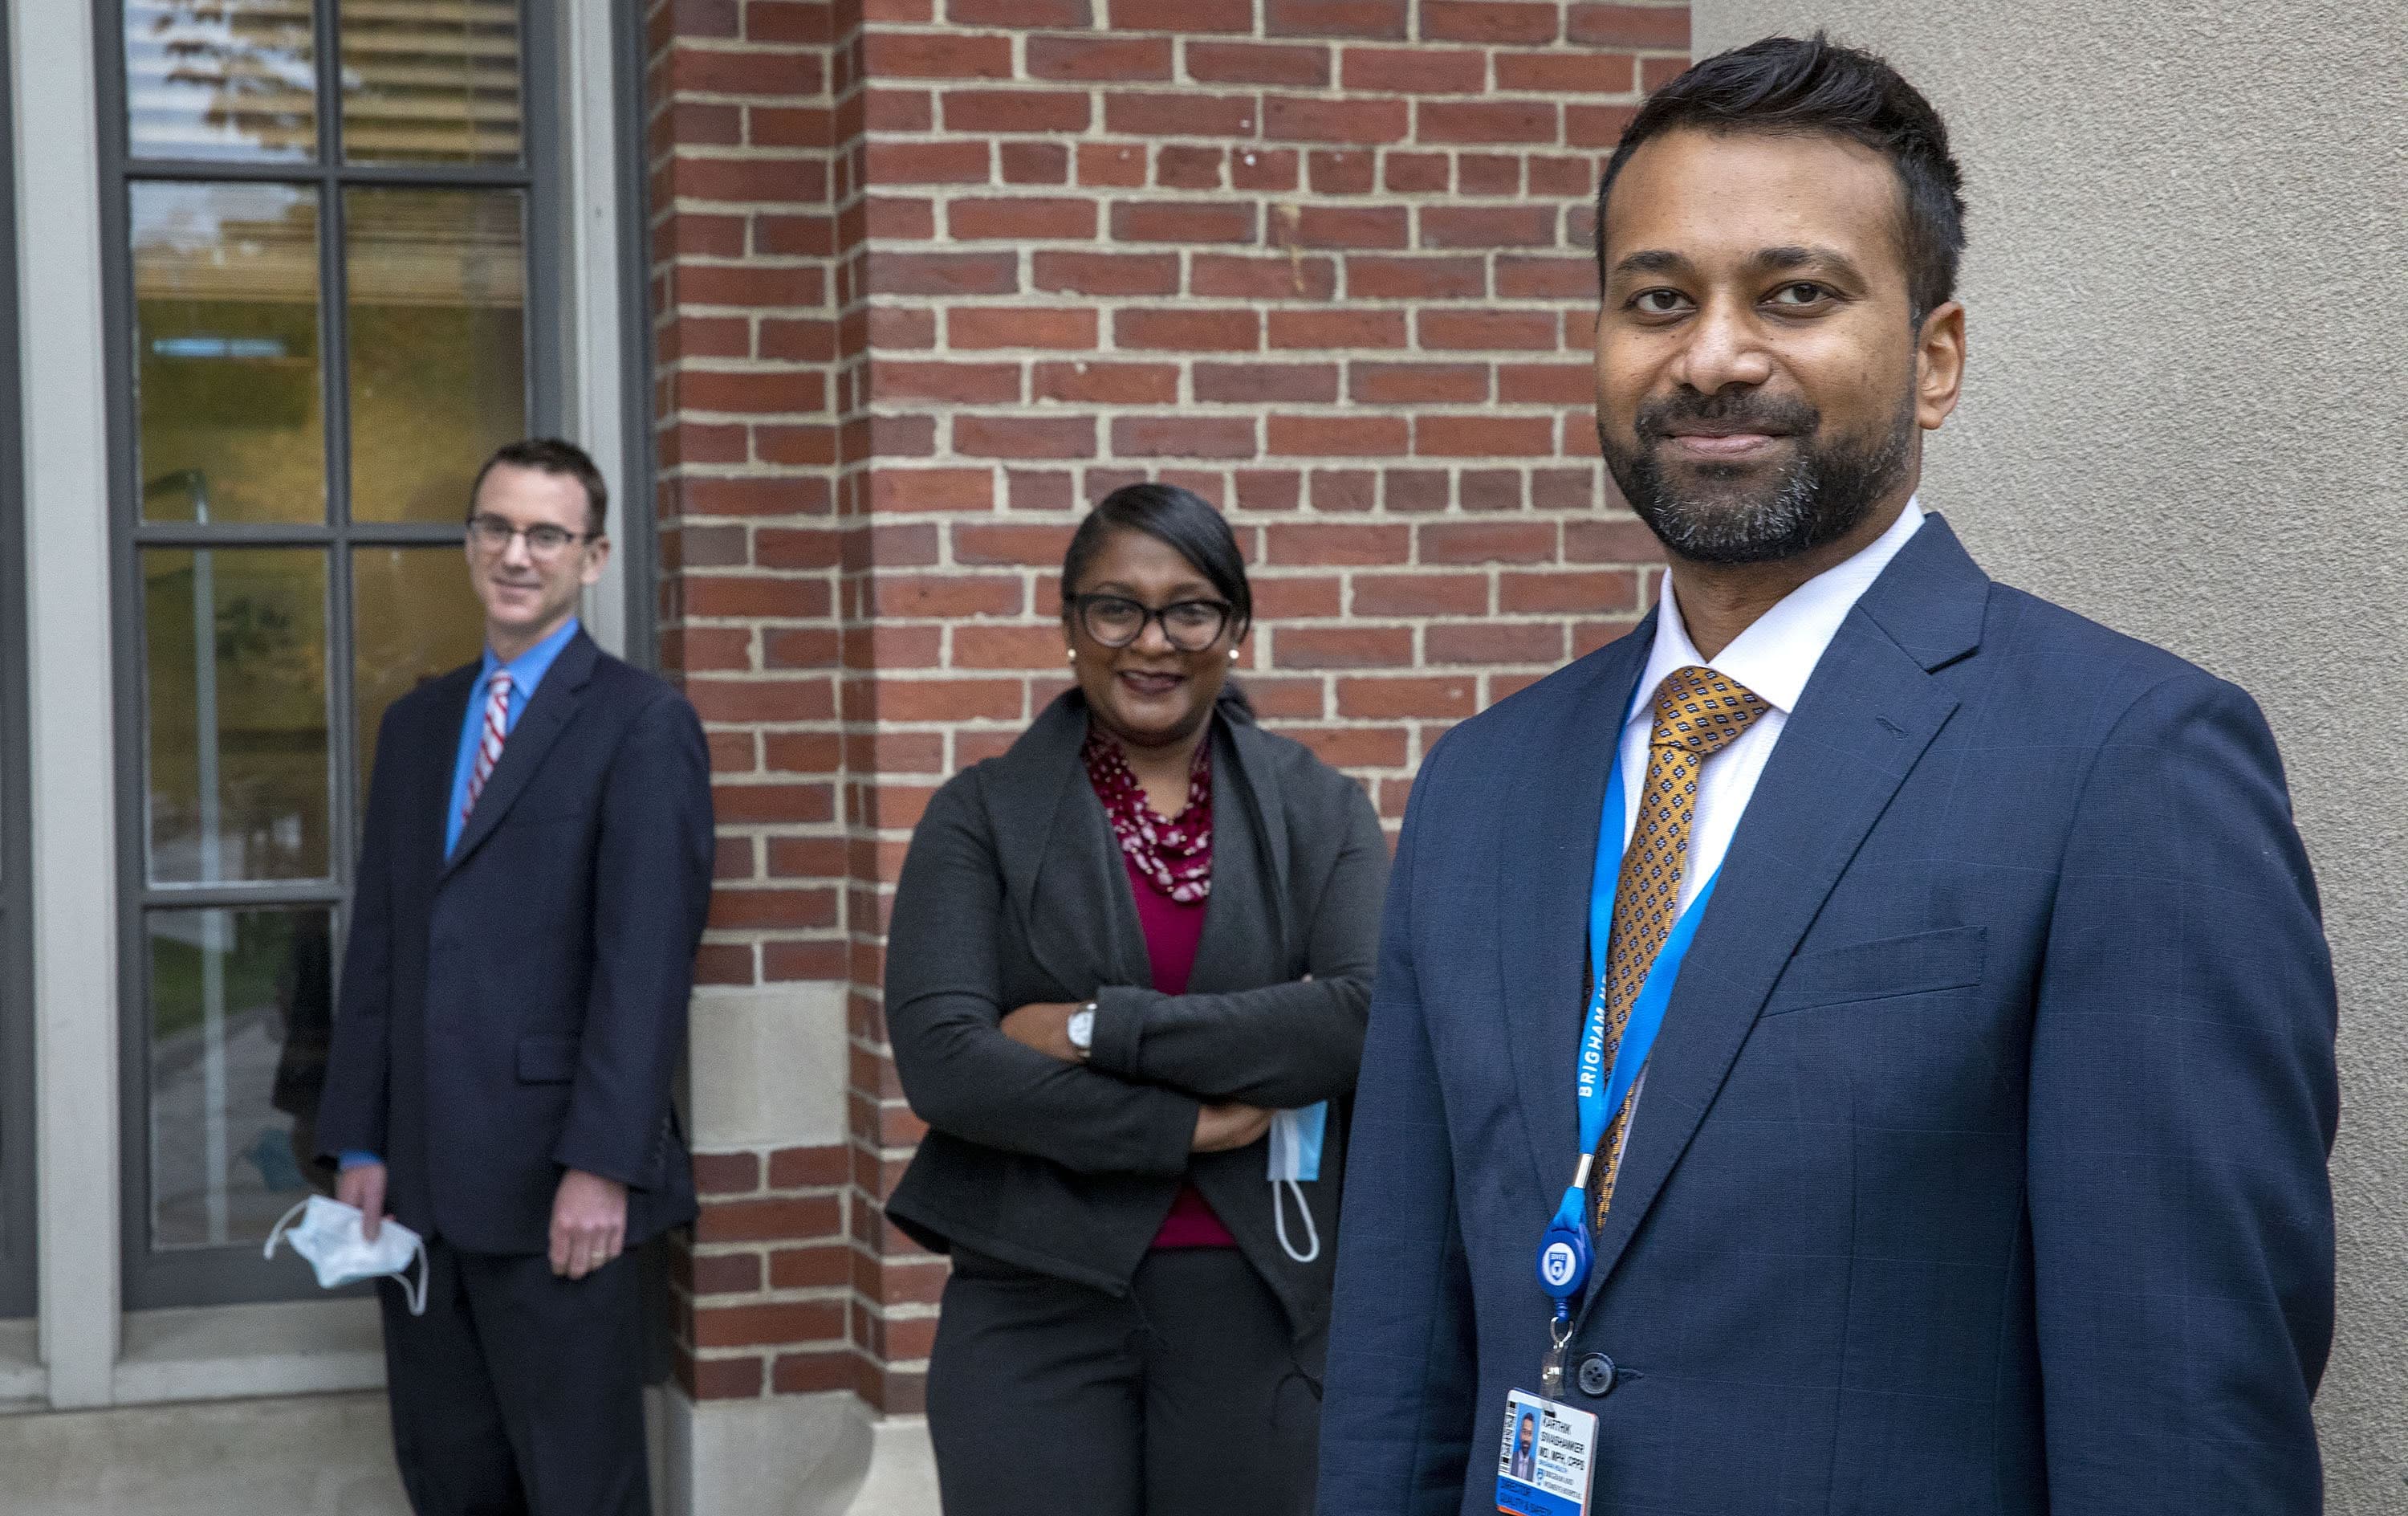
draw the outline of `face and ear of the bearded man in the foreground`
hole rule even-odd
[[[1955,410],[1965,318],[1912,321],[1900,181],[1847,137],[1674,130],[1606,205],[1597,436],[1693,562],[1871,537]]]

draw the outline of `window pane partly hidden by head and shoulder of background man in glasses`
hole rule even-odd
[[[352,605],[359,793],[366,795],[385,706],[477,658],[484,610],[458,547],[361,547],[352,554]]]

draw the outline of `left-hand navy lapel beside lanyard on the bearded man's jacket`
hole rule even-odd
[[[1529,750],[1527,788],[1495,798],[1505,1039],[1546,1195],[1558,1193],[1580,1157],[1572,1065],[1587,1005],[1589,872],[1623,711],[1652,646],[1649,615],[1630,636],[1575,665],[1563,697],[1517,735]]]

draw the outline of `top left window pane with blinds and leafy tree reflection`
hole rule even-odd
[[[311,0],[125,0],[132,157],[318,154]]]

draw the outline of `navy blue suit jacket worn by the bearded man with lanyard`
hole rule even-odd
[[[1495,1509],[1652,631],[1466,721],[1413,786],[1322,1516]],[[1565,1391],[1599,1417],[1589,1509],[2319,1511],[2336,1104],[2256,706],[1991,583],[1931,518],[1789,716],[1649,1058],[1570,1345],[1618,1369]]]

